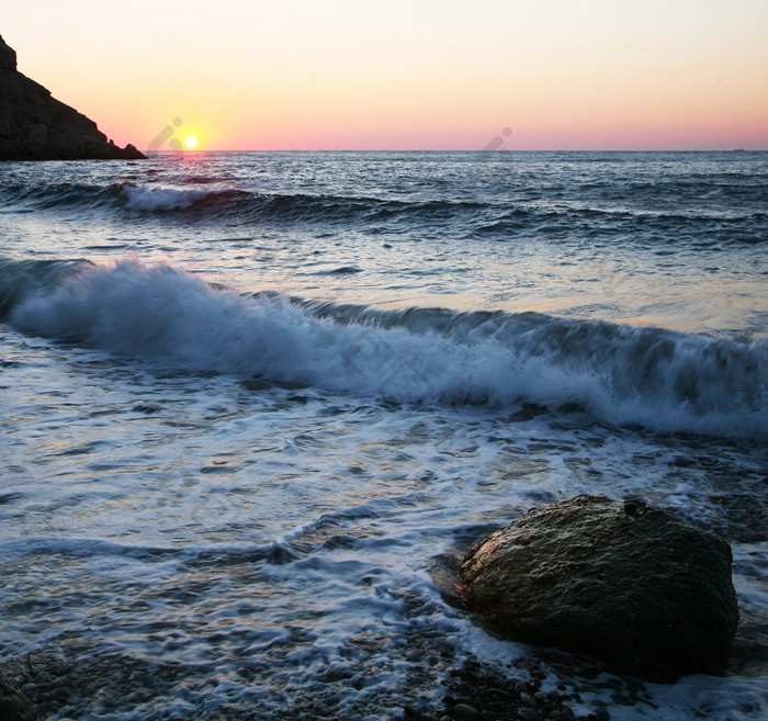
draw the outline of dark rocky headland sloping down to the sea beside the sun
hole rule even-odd
[[[16,70],[16,54],[0,37],[0,160],[145,158],[117,147],[97,124]]]

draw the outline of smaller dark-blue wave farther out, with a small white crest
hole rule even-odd
[[[737,206],[699,206],[671,211],[630,207],[610,189],[592,188],[591,198],[577,205],[535,199],[398,200],[358,195],[260,193],[237,188],[162,188],[117,182],[8,183],[0,188],[0,209],[7,212],[63,211],[88,214],[126,213],[144,218],[178,218],[227,223],[307,223],[343,227],[429,228],[474,239],[542,237],[690,238],[697,243],[763,243],[768,240],[766,214],[741,213]],[[647,189],[644,192],[648,192]],[[691,191],[692,192],[692,191]],[[606,198],[602,198],[607,194]],[[625,200],[625,199],[624,199]],[[621,201],[621,202],[620,202]],[[700,203],[699,203],[700,205]],[[749,207],[754,209],[754,204]]]

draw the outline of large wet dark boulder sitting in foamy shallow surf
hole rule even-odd
[[[738,623],[731,562],[725,541],[659,508],[583,495],[475,545],[459,588],[512,639],[670,681],[723,672]]]

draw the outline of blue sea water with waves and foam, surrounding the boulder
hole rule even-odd
[[[467,664],[768,718],[768,154],[5,162],[0,241],[0,658],[47,718],[439,718]],[[578,493],[729,540],[726,676],[451,606]]]

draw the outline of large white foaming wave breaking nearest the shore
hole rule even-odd
[[[662,431],[768,438],[768,341],[538,313],[252,296],[137,259],[0,262],[16,328],[162,365],[400,403],[530,401]]]

